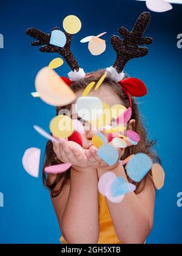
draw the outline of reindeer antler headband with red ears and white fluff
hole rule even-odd
[[[123,39],[120,39],[120,37],[116,35],[113,35],[111,38],[113,49],[116,51],[116,60],[113,66],[110,66],[110,68],[106,69],[107,76],[121,85],[127,94],[127,97],[129,98],[131,107],[132,101],[130,94],[135,97],[141,97],[146,95],[147,89],[140,79],[127,78],[123,80],[123,69],[129,60],[147,55],[148,49],[146,47],[140,47],[140,45],[151,44],[153,41],[150,37],[143,37],[149,22],[150,13],[141,13],[131,32],[129,32],[129,30],[127,30],[125,27],[120,27],[120,29],[118,29],[118,32],[123,37]],[[52,31],[53,30],[59,30],[59,27],[55,27],[52,29]],[[79,67],[78,62],[70,50],[72,35],[68,34],[67,32],[65,33],[67,41],[65,46],[61,48],[59,46],[50,44],[51,34],[45,34],[44,32],[33,28],[28,29],[26,33],[30,35],[30,37],[33,37],[37,40],[31,44],[32,46],[42,46],[39,48],[39,51],[59,53],[62,55],[67,64],[72,69],[72,71],[68,74],[70,80],[64,78],[68,85],[72,84],[73,81],[79,80],[86,76],[84,70]]]

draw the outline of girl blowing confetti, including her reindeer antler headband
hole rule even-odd
[[[116,104],[132,108],[132,116],[126,124],[126,130],[133,130],[140,135],[140,143],[130,146],[125,150],[119,149],[120,160],[124,160],[132,154],[144,153],[149,155],[153,162],[160,162],[152,150],[153,141],[147,139],[146,130],[141,121],[140,113],[133,96],[144,96],[146,87],[138,85],[130,79],[130,84],[123,84],[126,75],[124,66],[130,59],[143,57],[147,54],[147,48],[141,48],[141,44],[152,43],[152,38],[143,37],[150,21],[149,13],[142,13],[132,31],[124,27],[118,31],[120,37],[112,37],[112,46],[116,51],[114,65],[107,68],[109,76],[104,80],[98,90],[90,92],[89,96],[96,96],[102,102],[112,107]],[[59,29],[56,27],[55,29]],[[79,97],[90,82],[98,82],[105,70],[99,70],[90,74],[84,74],[79,68],[78,62],[70,51],[72,35],[65,33],[67,42],[64,48],[53,46],[49,43],[51,34],[45,34],[38,29],[28,29],[27,34],[36,38],[32,46],[42,46],[42,52],[57,52],[61,54],[69,64],[72,72],[67,84]],[[126,83],[126,82],[125,82]],[[132,95],[132,96],[131,96]],[[72,105],[66,106],[72,110],[72,119],[76,116]],[[58,115],[60,107],[56,108]],[[83,122],[86,126],[86,122]],[[59,139],[59,144],[49,141],[46,146],[44,168],[59,163],[72,163],[72,168],[64,174],[45,176],[44,184],[50,190],[50,195],[58,217],[61,229],[61,243],[70,244],[129,244],[144,243],[153,226],[153,210],[155,205],[155,187],[152,182],[151,171],[140,182],[135,183],[135,192],[126,194],[119,204],[113,204],[98,192],[98,180],[105,172],[112,171],[116,176],[122,176],[128,182],[132,182],[126,174],[126,166],[119,162],[113,166],[107,165],[97,155],[97,149],[92,146],[92,138],[96,131],[92,127],[86,129],[81,135],[83,151],[80,151],[74,141]],[[112,140],[106,136],[108,143]],[[114,145],[113,145],[114,146]]]

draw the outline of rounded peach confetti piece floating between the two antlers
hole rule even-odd
[[[106,51],[106,41],[98,37],[92,37],[88,47],[92,55],[100,55]]]

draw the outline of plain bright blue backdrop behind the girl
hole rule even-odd
[[[50,202],[49,192],[39,179],[27,174],[21,158],[25,149],[38,147],[44,153],[46,140],[33,130],[37,124],[49,130],[55,108],[30,96],[39,69],[49,64],[56,54],[43,54],[30,47],[25,35],[28,27],[50,32],[61,26],[64,17],[77,15],[83,27],[74,36],[72,51],[85,71],[106,68],[115,60],[110,36],[120,26],[132,29],[138,15],[147,10],[145,2],[126,1],[2,1],[0,33],[1,85],[1,171],[0,191],[4,207],[0,208],[0,243],[59,243],[59,226]],[[181,172],[181,54],[177,35],[182,33],[182,5],[166,13],[153,13],[146,35],[155,41],[147,57],[132,60],[127,73],[147,84],[148,94],[140,99],[140,110],[166,171],[166,183],[155,208],[155,224],[147,243],[182,242],[182,208],[177,207],[177,193],[182,191]],[[87,35],[107,31],[107,51],[94,57],[87,44],[79,43]],[[69,67],[57,69],[66,76]]]

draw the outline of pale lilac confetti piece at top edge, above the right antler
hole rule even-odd
[[[164,0],[146,0],[146,5],[153,12],[167,12],[172,10],[172,5]]]

